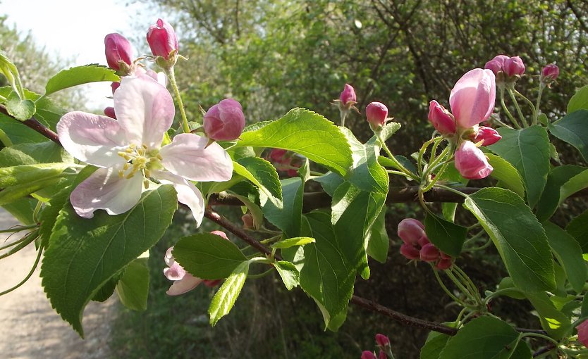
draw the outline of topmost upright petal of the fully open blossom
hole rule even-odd
[[[171,94],[148,76],[123,77],[114,93],[114,111],[130,143],[149,149],[159,148],[176,113]]]

